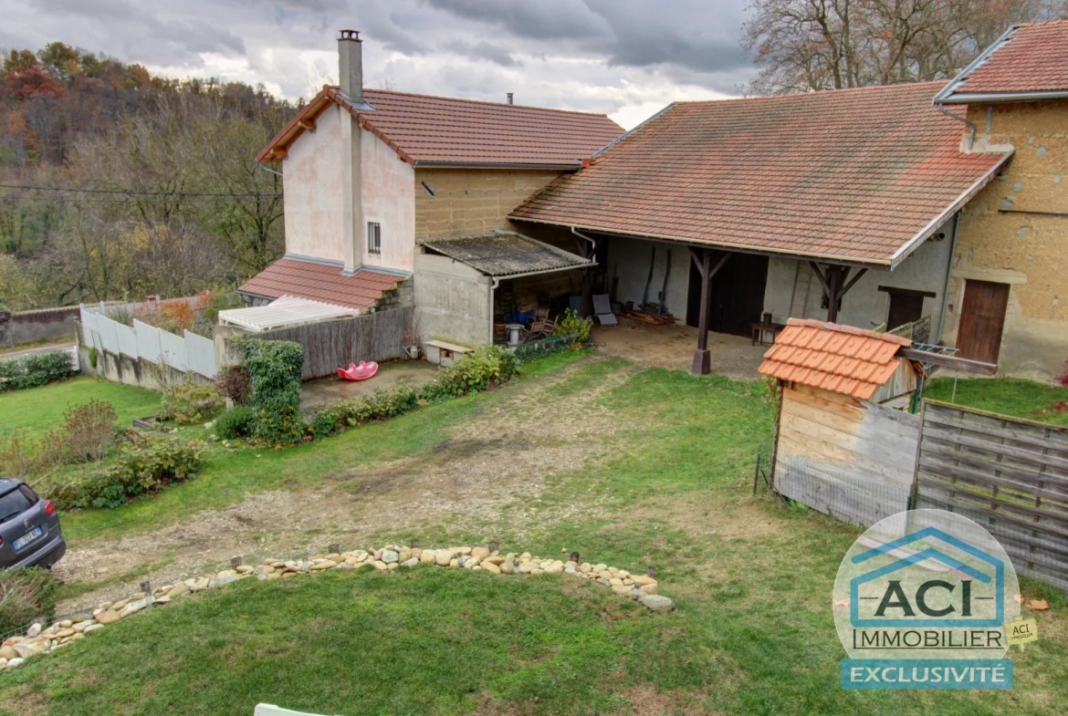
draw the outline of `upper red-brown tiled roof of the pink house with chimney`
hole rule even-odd
[[[411,164],[578,168],[583,158],[623,133],[604,114],[386,90],[364,90],[363,98],[374,110],[354,106],[337,87],[324,87],[256,160],[278,161],[277,150],[284,152],[335,104]]]

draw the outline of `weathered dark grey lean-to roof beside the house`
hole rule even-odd
[[[490,276],[564,271],[591,264],[590,259],[514,232],[423,239],[420,243]]]

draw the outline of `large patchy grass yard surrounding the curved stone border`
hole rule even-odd
[[[1040,640],[1011,654],[1014,691],[843,691],[831,589],[857,530],[751,494],[771,426],[759,384],[563,355],[507,388],[317,444],[215,447],[202,476],[154,499],[64,514],[73,545],[100,550],[113,539],[105,530],[132,538],[256,491],[329,483],[331,503],[352,494],[351,509],[363,506],[362,544],[497,539],[630,571],[655,564],[677,609],[654,615],[553,575],[242,580],[0,674],[0,713],[247,716],[257,702],[343,716],[1068,713],[1068,602],[1030,583],[1026,596],[1052,608],[1024,610]],[[494,450],[507,459],[490,462]],[[509,477],[517,461],[535,488]],[[450,464],[462,470],[438,480]],[[516,497],[457,502],[404,529],[374,522],[394,498],[408,512],[452,499],[480,471],[480,490]]]

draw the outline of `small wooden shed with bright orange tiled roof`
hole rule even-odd
[[[886,505],[907,509],[920,418],[907,405],[922,366],[899,352],[908,338],[790,319],[759,371],[781,387],[773,482],[780,494],[822,512],[875,524]],[[868,486],[881,499],[858,504]],[[843,500],[847,500],[846,504]],[[899,503],[899,505],[898,505]]]

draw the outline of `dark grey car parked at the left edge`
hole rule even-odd
[[[48,567],[66,554],[60,515],[22,480],[0,477],[0,569]]]

